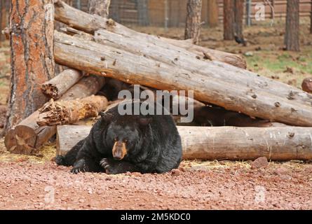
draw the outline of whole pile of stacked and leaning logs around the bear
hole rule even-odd
[[[140,84],[194,91],[192,125],[237,126],[179,126],[185,159],[312,159],[311,94],[245,70],[239,55],[142,34],[63,1],[55,19],[67,25],[54,34],[55,62],[71,69],[43,83],[52,99],[6,134],[9,151],[36,153],[57,132],[57,153],[66,153],[90,131],[67,124],[96,117],[113,94]]]

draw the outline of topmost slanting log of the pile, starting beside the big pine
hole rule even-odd
[[[111,19],[84,13],[81,10],[68,6],[66,3],[60,0],[55,2],[55,20],[63,22],[74,29],[85,31],[89,34],[94,34],[98,29],[107,29],[111,32],[114,32],[115,34],[122,34],[126,36],[140,36],[140,38],[144,39],[151,37],[151,35],[142,34],[132,29],[128,29],[127,27],[124,27],[123,25],[120,25]],[[233,66],[238,66],[243,69],[246,68],[246,62],[240,55],[234,55],[229,52],[222,52],[219,50],[212,50],[203,47],[196,47],[196,45],[192,44],[191,42],[184,42],[161,37],[158,38],[165,43],[170,42],[173,45],[177,45],[181,48],[189,50],[190,52],[194,52],[197,57],[204,57],[203,52],[208,52],[213,60],[232,64]]]

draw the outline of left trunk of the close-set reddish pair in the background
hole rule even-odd
[[[224,40],[234,39],[234,0],[223,0]]]

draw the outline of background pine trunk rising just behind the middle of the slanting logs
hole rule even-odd
[[[201,35],[201,8],[202,0],[188,0],[187,1],[187,15],[185,26],[185,39],[193,39],[194,44],[199,43],[199,36]]]

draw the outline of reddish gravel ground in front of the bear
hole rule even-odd
[[[183,162],[168,174],[70,174],[0,162],[0,209],[312,209],[312,165]]]

